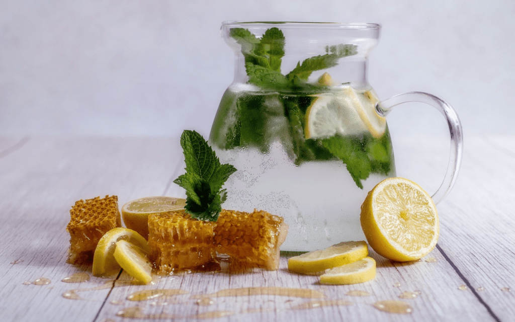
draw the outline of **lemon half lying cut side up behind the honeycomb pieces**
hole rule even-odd
[[[174,197],[146,197],[127,202],[122,207],[122,218],[127,228],[148,239],[148,215],[184,209],[186,200]]]

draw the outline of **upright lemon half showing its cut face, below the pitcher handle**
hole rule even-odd
[[[436,246],[436,206],[418,184],[404,178],[378,183],[361,206],[361,226],[370,246],[394,261],[413,261]]]

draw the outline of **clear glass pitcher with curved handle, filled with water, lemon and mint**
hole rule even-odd
[[[367,81],[367,59],[381,26],[361,23],[224,22],[234,50],[234,81],[221,99],[210,144],[238,170],[223,207],[283,216],[281,250],[310,251],[365,240],[361,204],[396,176],[385,116],[421,101],[439,109],[451,132],[451,157],[439,190],[451,190],[462,134],[453,108],[426,93],[381,101]]]

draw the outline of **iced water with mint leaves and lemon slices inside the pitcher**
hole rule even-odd
[[[225,209],[265,210],[285,218],[282,250],[313,250],[364,240],[360,206],[394,175],[386,123],[375,95],[342,86],[317,94],[230,87],[210,143],[238,170],[226,182]]]

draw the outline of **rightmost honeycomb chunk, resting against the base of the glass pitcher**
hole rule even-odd
[[[252,266],[279,268],[279,246],[286,239],[284,219],[266,211],[222,210],[214,229],[216,251]]]

